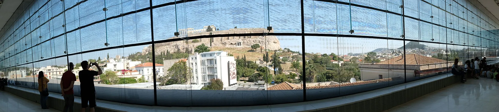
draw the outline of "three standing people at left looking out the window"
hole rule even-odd
[[[60,81],[60,89],[62,96],[64,97],[64,110],[63,112],[73,112],[74,104],[74,82],[76,81],[76,76],[73,73],[74,64],[69,63],[69,68],[66,72],[62,74]],[[91,66],[96,66],[98,71],[88,70]],[[81,96],[81,112],[85,112],[85,109],[90,105],[89,112],[95,112],[95,107],[97,107],[95,98],[95,86],[93,83],[93,77],[102,74],[102,69],[100,69],[97,63],[88,63],[88,61],[81,62],[81,67],[83,70],[78,72],[78,79],[80,82],[80,96]],[[46,105],[48,96],[48,84],[49,80],[44,77],[43,72],[38,73],[38,91],[40,92],[40,105],[42,109],[48,109]]]

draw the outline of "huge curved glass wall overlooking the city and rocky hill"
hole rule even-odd
[[[89,61],[103,70],[93,79],[103,101],[329,99],[447,74],[454,59],[497,60],[497,18],[479,8],[468,0],[35,0],[2,29],[0,77],[37,89],[43,71],[49,91],[61,93],[68,63],[78,78]],[[80,96],[79,79],[74,91]]]

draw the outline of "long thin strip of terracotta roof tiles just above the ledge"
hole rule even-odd
[[[389,81],[402,80],[402,79],[404,79],[404,78],[399,76],[399,77],[394,77],[394,78],[386,78],[386,79],[378,79],[378,80],[370,80],[370,81],[358,81],[355,83],[342,83],[342,84],[338,84],[338,85],[312,86],[312,87],[307,87],[307,89],[338,88],[338,87],[347,87],[347,86],[357,86],[357,85],[389,82]],[[303,87],[295,88],[294,90],[302,90],[302,89],[303,89]]]

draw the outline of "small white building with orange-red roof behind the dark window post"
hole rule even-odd
[[[154,77],[153,77],[154,73],[153,72],[156,72],[157,77],[161,77],[165,73],[164,72],[165,70],[164,70],[162,64],[155,63],[155,66],[156,66],[156,70],[153,69],[153,63],[147,62],[147,63],[143,63],[143,64],[138,64],[137,66],[135,66],[135,70],[138,71],[138,74],[142,74],[142,77],[144,77],[144,79],[146,79],[149,82],[153,82],[154,81]],[[138,77],[138,78],[141,78],[141,77]]]

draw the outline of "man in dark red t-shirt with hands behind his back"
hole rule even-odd
[[[62,112],[73,112],[74,93],[73,86],[76,76],[73,73],[73,62],[69,62],[68,70],[62,74],[61,93],[64,96],[64,110]]]

